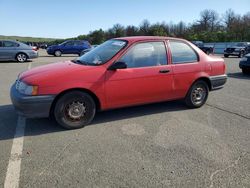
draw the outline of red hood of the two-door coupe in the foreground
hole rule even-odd
[[[47,84],[53,84],[55,80],[63,82],[68,79],[77,79],[79,73],[85,74],[88,70],[94,70],[100,67],[86,66],[73,63],[71,61],[63,61],[58,63],[51,63],[36,67],[19,75],[19,79],[26,83],[39,85],[41,82],[46,81]]]

